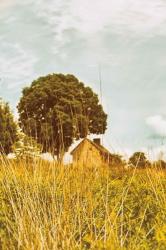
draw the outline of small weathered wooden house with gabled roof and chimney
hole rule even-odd
[[[109,165],[111,161],[111,153],[101,145],[100,139],[94,139],[93,141],[87,138],[83,139],[72,150],[71,155],[74,164],[78,163],[85,166]]]

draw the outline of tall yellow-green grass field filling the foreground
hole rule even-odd
[[[166,174],[3,160],[0,249],[166,249]]]

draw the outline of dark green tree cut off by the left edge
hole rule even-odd
[[[9,105],[0,99],[0,152],[9,154],[17,139],[17,125]]]

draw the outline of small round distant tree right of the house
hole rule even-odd
[[[134,165],[135,167],[144,168],[150,165],[150,162],[147,160],[143,152],[135,152],[129,158],[129,164]]]

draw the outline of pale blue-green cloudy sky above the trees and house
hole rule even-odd
[[[165,0],[0,0],[0,96],[49,73],[74,74],[108,113],[104,144],[166,158]]]

